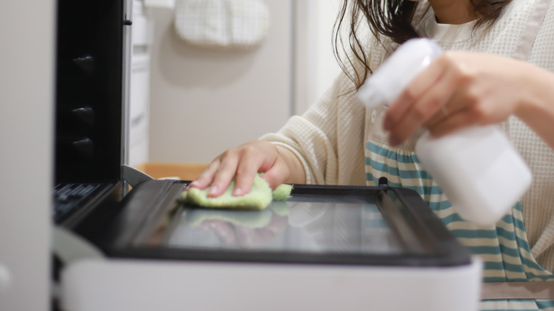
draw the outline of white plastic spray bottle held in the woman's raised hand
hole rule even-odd
[[[441,53],[432,40],[408,40],[366,80],[358,98],[369,109],[388,107]],[[460,217],[477,224],[498,222],[531,186],[531,171],[496,125],[440,138],[425,131],[415,154]]]

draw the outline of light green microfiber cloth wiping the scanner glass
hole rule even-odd
[[[259,175],[256,175],[250,192],[241,197],[232,195],[234,190],[234,180],[232,180],[227,190],[219,197],[207,197],[209,188],[200,190],[191,187],[181,194],[181,200],[188,204],[208,208],[265,209],[272,200],[286,200],[292,189],[291,185],[283,184],[272,191],[268,183]]]

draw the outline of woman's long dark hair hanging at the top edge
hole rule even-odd
[[[471,2],[475,13],[482,16],[474,26],[475,30],[491,26],[511,0],[471,0]],[[343,0],[333,28],[333,50],[342,71],[354,82],[356,89],[362,86],[366,77],[372,72],[366,47],[359,38],[360,23],[364,21],[368,23],[371,33],[379,42],[382,43],[381,38],[384,36],[401,44],[411,38],[420,37],[412,23],[417,5],[417,1],[410,0]],[[345,25],[347,17],[349,17],[349,24]],[[347,44],[344,42],[342,33],[346,26],[349,27]],[[349,54],[347,48],[352,52],[354,60],[347,56]],[[352,72],[348,69],[354,68],[356,60],[364,65],[363,72],[356,70]]]

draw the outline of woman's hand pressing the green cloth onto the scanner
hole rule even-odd
[[[219,197],[229,187],[233,178],[233,195],[246,195],[257,173],[275,189],[283,182],[303,183],[304,170],[300,160],[286,148],[268,141],[251,141],[217,156],[190,187],[205,189],[209,197]]]

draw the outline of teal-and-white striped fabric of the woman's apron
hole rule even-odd
[[[392,148],[379,141],[367,141],[365,173],[368,185],[381,177],[393,187],[418,192],[450,231],[484,262],[484,282],[554,280],[552,273],[538,266],[527,242],[521,205],[518,203],[496,227],[465,222],[452,207],[413,151]],[[553,310],[551,300],[490,300],[482,310]]]

